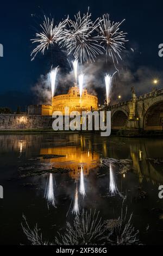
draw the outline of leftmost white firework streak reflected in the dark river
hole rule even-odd
[[[55,207],[55,197],[54,197],[54,184],[53,184],[53,174],[50,173],[47,180],[47,186],[45,190],[44,197],[47,199],[48,204]]]

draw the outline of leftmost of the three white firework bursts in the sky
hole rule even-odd
[[[66,22],[62,21],[58,26],[54,26],[53,19],[50,20],[46,16],[44,16],[43,25],[40,25],[41,32],[36,33],[36,38],[31,39],[33,44],[37,44],[34,50],[31,53],[33,56],[32,60],[35,58],[36,54],[41,52],[44,54],[45,50],[48,50],[49,46],[57,44],[62,37],[64,36],[64,27],[66,26]]]

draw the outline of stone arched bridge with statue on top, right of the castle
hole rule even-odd
[[[106,107],[111,111],[112,130],[141,129],[162,131],[163,89],[136,97],[134,88],[129,101]]]

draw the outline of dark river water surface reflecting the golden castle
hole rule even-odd
[[[22,214],[32,227],[38,223],[43,237],[51,241],[74,218],[76,197],[80,211],[97,209],[109,220],[121,215],[123,196],[127,196],[128,213],[133,212],[140,240],[162,243],[163,199],[158,197],[158,188],[163,185],[163,139],[78,133],[0,135],[0,145],[1,244],[28,244],[22,233]],[[108,157],[113,159],[115,196],[109,191],[109,166],[103,166]],[[116,160],[131,160],[130,167],[118,166]],[[45,198],[51,170],[53,205]],[[81,172],[85,197],[79,193]]]

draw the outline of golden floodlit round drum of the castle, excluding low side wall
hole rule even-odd
[[[80,101],[80,93],[78,87],[71,87],[67,94],[54,96],[52,100],[52,110],[64,113],[65,107],[69,107],[69,111],[91,111],[96,110],[98,99],[96,96],[87,93],[83,89],[82,100]]]

